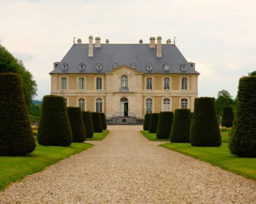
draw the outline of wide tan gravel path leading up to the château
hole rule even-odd
[[[140,125],[108,129],[94,147],[0,191],[0,203],[256,203],[256,182],[160,147]]]

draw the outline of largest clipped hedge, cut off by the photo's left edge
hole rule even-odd
[[[23,156],[34,149],[20,77],[0,73],[0,156]]]

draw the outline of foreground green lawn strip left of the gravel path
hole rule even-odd
[[[38,145],[28,156],[0,157],[0,189],[23,179],[71,155],[92,147],[89,143],[72,143],[69,147]]]

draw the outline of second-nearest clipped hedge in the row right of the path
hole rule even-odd
[[[192,146],[217,147],[221,145],[221,134],[214,98],[200,97],[195,99],[190,143]]]

